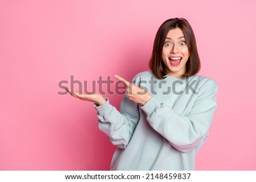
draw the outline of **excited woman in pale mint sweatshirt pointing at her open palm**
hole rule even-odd
[[[156,33],[151,71],[126,84],[120,112],[100,94],[72,96],[94,102],[99,128],[117,146],[111,170],[194,170],[216,110],[217,84],[200,70],[193,30],[168,19]]]

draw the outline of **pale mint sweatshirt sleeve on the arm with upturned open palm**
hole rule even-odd
[[[129,100],[125,95],[121,102],[120,112],[109,103],[108,99],[105,104],[100,106],[94,104],[94,107],[98,111],[100,130],[109,137],[113,145],[125,149],[139,121],[138,104]]]

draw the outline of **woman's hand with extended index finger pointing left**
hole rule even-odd
[[[117,78],[119,81],[121,81],[123,84],[127,86],[126,87],[127,95],[131,101],[144,105],[147,103],[148,100],[152,98],[152,95],[150,95],[143,88],[140,88],[137,85],[126,81],[126,79],[119,77],[118,75],[115,75],[115,78]]]

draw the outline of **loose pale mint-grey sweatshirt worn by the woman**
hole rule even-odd
[[[157,79],[145,71],[132,83],[152,95],[146,104],[125,95],[120,112],[108,99],[94,105],[100,130],[117,146],[110,170],[194,170],[216,110],[216,82],[198,75]]]

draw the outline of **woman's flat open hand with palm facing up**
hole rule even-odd
[[[69,92],[73,97],[85,100],[85,101],[91,101],[97,105],[102,105],[106,102],[104,97],[101,94],[97,94],[95,92],[80,92],[80,91],[72,91],[68,87],[63,87],[65,90]]]

